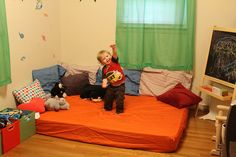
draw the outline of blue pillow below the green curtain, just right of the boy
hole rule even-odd
[[[128,95],[139,95],[139,86],[140,86],[140,70],[124,70],[126,77],[125,80],[125,94]]]

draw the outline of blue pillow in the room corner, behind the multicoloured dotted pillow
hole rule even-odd
[[[66,70],[60,65],[54,65],[47,68],[42,68],[32,71],[33,80],[38,79],[44,92],[50,93],[51,89],[57,82],[60,82],[61,77]]]

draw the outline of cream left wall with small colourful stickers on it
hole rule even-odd
[[[0,88],[0,109],[15,107],[12,91],[32,81],[33,69],[55,64],[60,58],[59,3],[43,1],[43,8],[36,10],[36,2],[5,1],[12,83]]]

